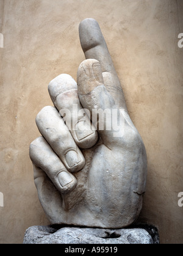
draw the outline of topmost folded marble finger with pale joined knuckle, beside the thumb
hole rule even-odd
[[[98,133],[81,106],[74,79],[70,75],[61,74],[49,82],[48,91],[76,144],[81,148],[95,145]]]

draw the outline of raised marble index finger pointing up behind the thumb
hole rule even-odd
[[[115,100],[117,107],[127,111],[123,90],[98,22],[92,18],[81,21],[79,38],[85,58],[99,61],[104,84]]]

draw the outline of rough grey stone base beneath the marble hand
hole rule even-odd
[[[157,244],[159,235],[152,225],[128,229],[92,229],[35,225],[24,234],[23,244]]]

